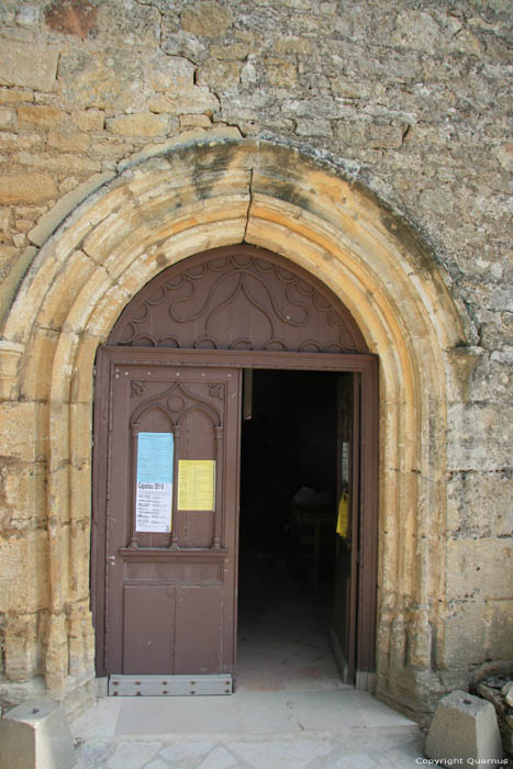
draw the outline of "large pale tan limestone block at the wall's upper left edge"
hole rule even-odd
[[[52,91],[56,86],[59,53],[45,45],[2,41],[0,81],[5,86]]]

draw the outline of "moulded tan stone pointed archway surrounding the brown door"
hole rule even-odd
[[[66,698],[80,687],[87,695],[93,679],[96,349],[161,269],[241,242],[325,281],[380,356],[377,686],[425,710],[438,687],[432,656],[446,662],[446,404],[459,397],[453,350],[464,327],[433,259],[398,218],[335,169],[253,141],[178,148],[127,168],[41,249],[8,317],[12,415],[23,412],[47,461],[46,500],[32,501],[34,520],[42,504],[47,516],[46,683]]]

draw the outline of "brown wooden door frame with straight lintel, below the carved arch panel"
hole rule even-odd
[[[379,358],[370,354],[285,353],[276,350],[177,349],[103,345],[101,350],[115,355],[116,364],[150,363],[153,366],[201,366],[235,369],[283,369],[359,374],[360,398],[360,495],[359,551],[356,601],[356,683],[359,673],[376,669],[377,576],[378,576],[378,481],[379,481]],[[97,358],[99,367],[109,356]],[[103,364],[104,365],[104,364]],[[103,375],[103,376],[102,376]],[[97,381],[107,381],[97,371]],[[104,675],[104,571],[107,468],[101,446],[107,439],[111,403],[107,393],[94,390],[93,492],[91,532],[91,610],[96,631],[97,676]],[[103,454],[104,456],[104,454]],[[237,489],[239,483],[237,462]],[[238,526],[238,524],[237,524]],[[238,544],[238,533],[236,537]],[[237,554],[236,554],[237,555]],[[235,604],[235,627],[236,627]],[[365,676],[364,676],[365,678]]]

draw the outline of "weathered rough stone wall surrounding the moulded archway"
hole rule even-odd
[[[31,265],[82,200],[114,183],[131,164],[197,142],[254,138],[297,147],[353,188],[377,196],[394,227],[405,223],[412,239],[422,239],[431,261],[425,269],[444,277],[465,327],[454,370],[445,371],[448,392],[454,377],[462,395],[449,394],[440,404],[433,392],[423,406],[423,430],[430,433],[439,411],[446,425],[443,435],[438,423],[431,438],[422,436],[432,444],[434,436],[447,439],[439,447],[446,453],[445,512],[437,524],[444,546],[423,549],[421,527],[404,567],[401,616],[383,584],[380,605],[408,637],[403,626],[414,633],[422,604],[421,575],[436,575],[438,593],[433,587],[428,593],[430,692],[511,664],[509,3],[3,0],[0,23],[4,320],[23,276],[25,285],[40,280],[41,291],[48,288],[45,272],[35,276]],[[66,226],[58,231],[63,237]],[[67,291],[79,292],[87,264],[85,257],[83,272],[74,274]],[[23,296],[22,289],[19,307]],[[27,305],[27,325],[32,312]],[[54,587],[63,580],[67,597],[68,614],[58,622],[74,625],[88,612],[83,597],[75,594],[75,603],[69,598],[67,577],[47,568],[57,513],[48,509],[46,491],[52,413],[45,360],[54,359],[63,327],[55,313],[40,323],[41,374],[35,367],[24,388],[16,378],[22,341],[5,335],[0,343],[0,636],[10,682],[43,672],[48,680],[49,659],[78,678],[90,669],[87,633],[71,628],[66,646],[48,640],[58,637],[48,629],[51,616],[57,622],[49,611],[52,580]],[[365,320],[360,324],[364,330]],[[428,520],[431,511],[424,514]],[[389,558],[384,521],[382,575]],[[85,520],[77,525],[86,526],[87,537]],[[87,560],[83,570],[87,576]],[[379,627],[384,624],[382,618]],[[401,640],[395,656],[400,648],[411,672],[414,655]],[[384,643],[378,650],[380,658],[392,654]],[[433,699],[419,694],[410,672],[400,683],[397,671],[397,683],[387,679],[381,693],[420,714]]]

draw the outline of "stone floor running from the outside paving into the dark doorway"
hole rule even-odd
[[[77,769],[422,766],[424,735],[342,683],[325,605],[279,559],[253,569],[241,588],[236,693],[100,700],[71,726]]]

